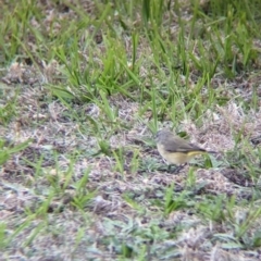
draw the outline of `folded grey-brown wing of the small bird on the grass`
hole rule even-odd
[[[178,142],[178,139],[182,140],[182,145]],[[179,137],[176,137],[175,140],[165,142],[164,149],[170,152],[206,151],[194,144],[184,142],[184,140]]]

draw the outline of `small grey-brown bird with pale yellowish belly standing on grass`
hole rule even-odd
[[[189,162],[197,154],[215,153],[175,136],[169,129],[159,130],[156,135],[156,141],[159,153],[169,164],[182,165]]]

